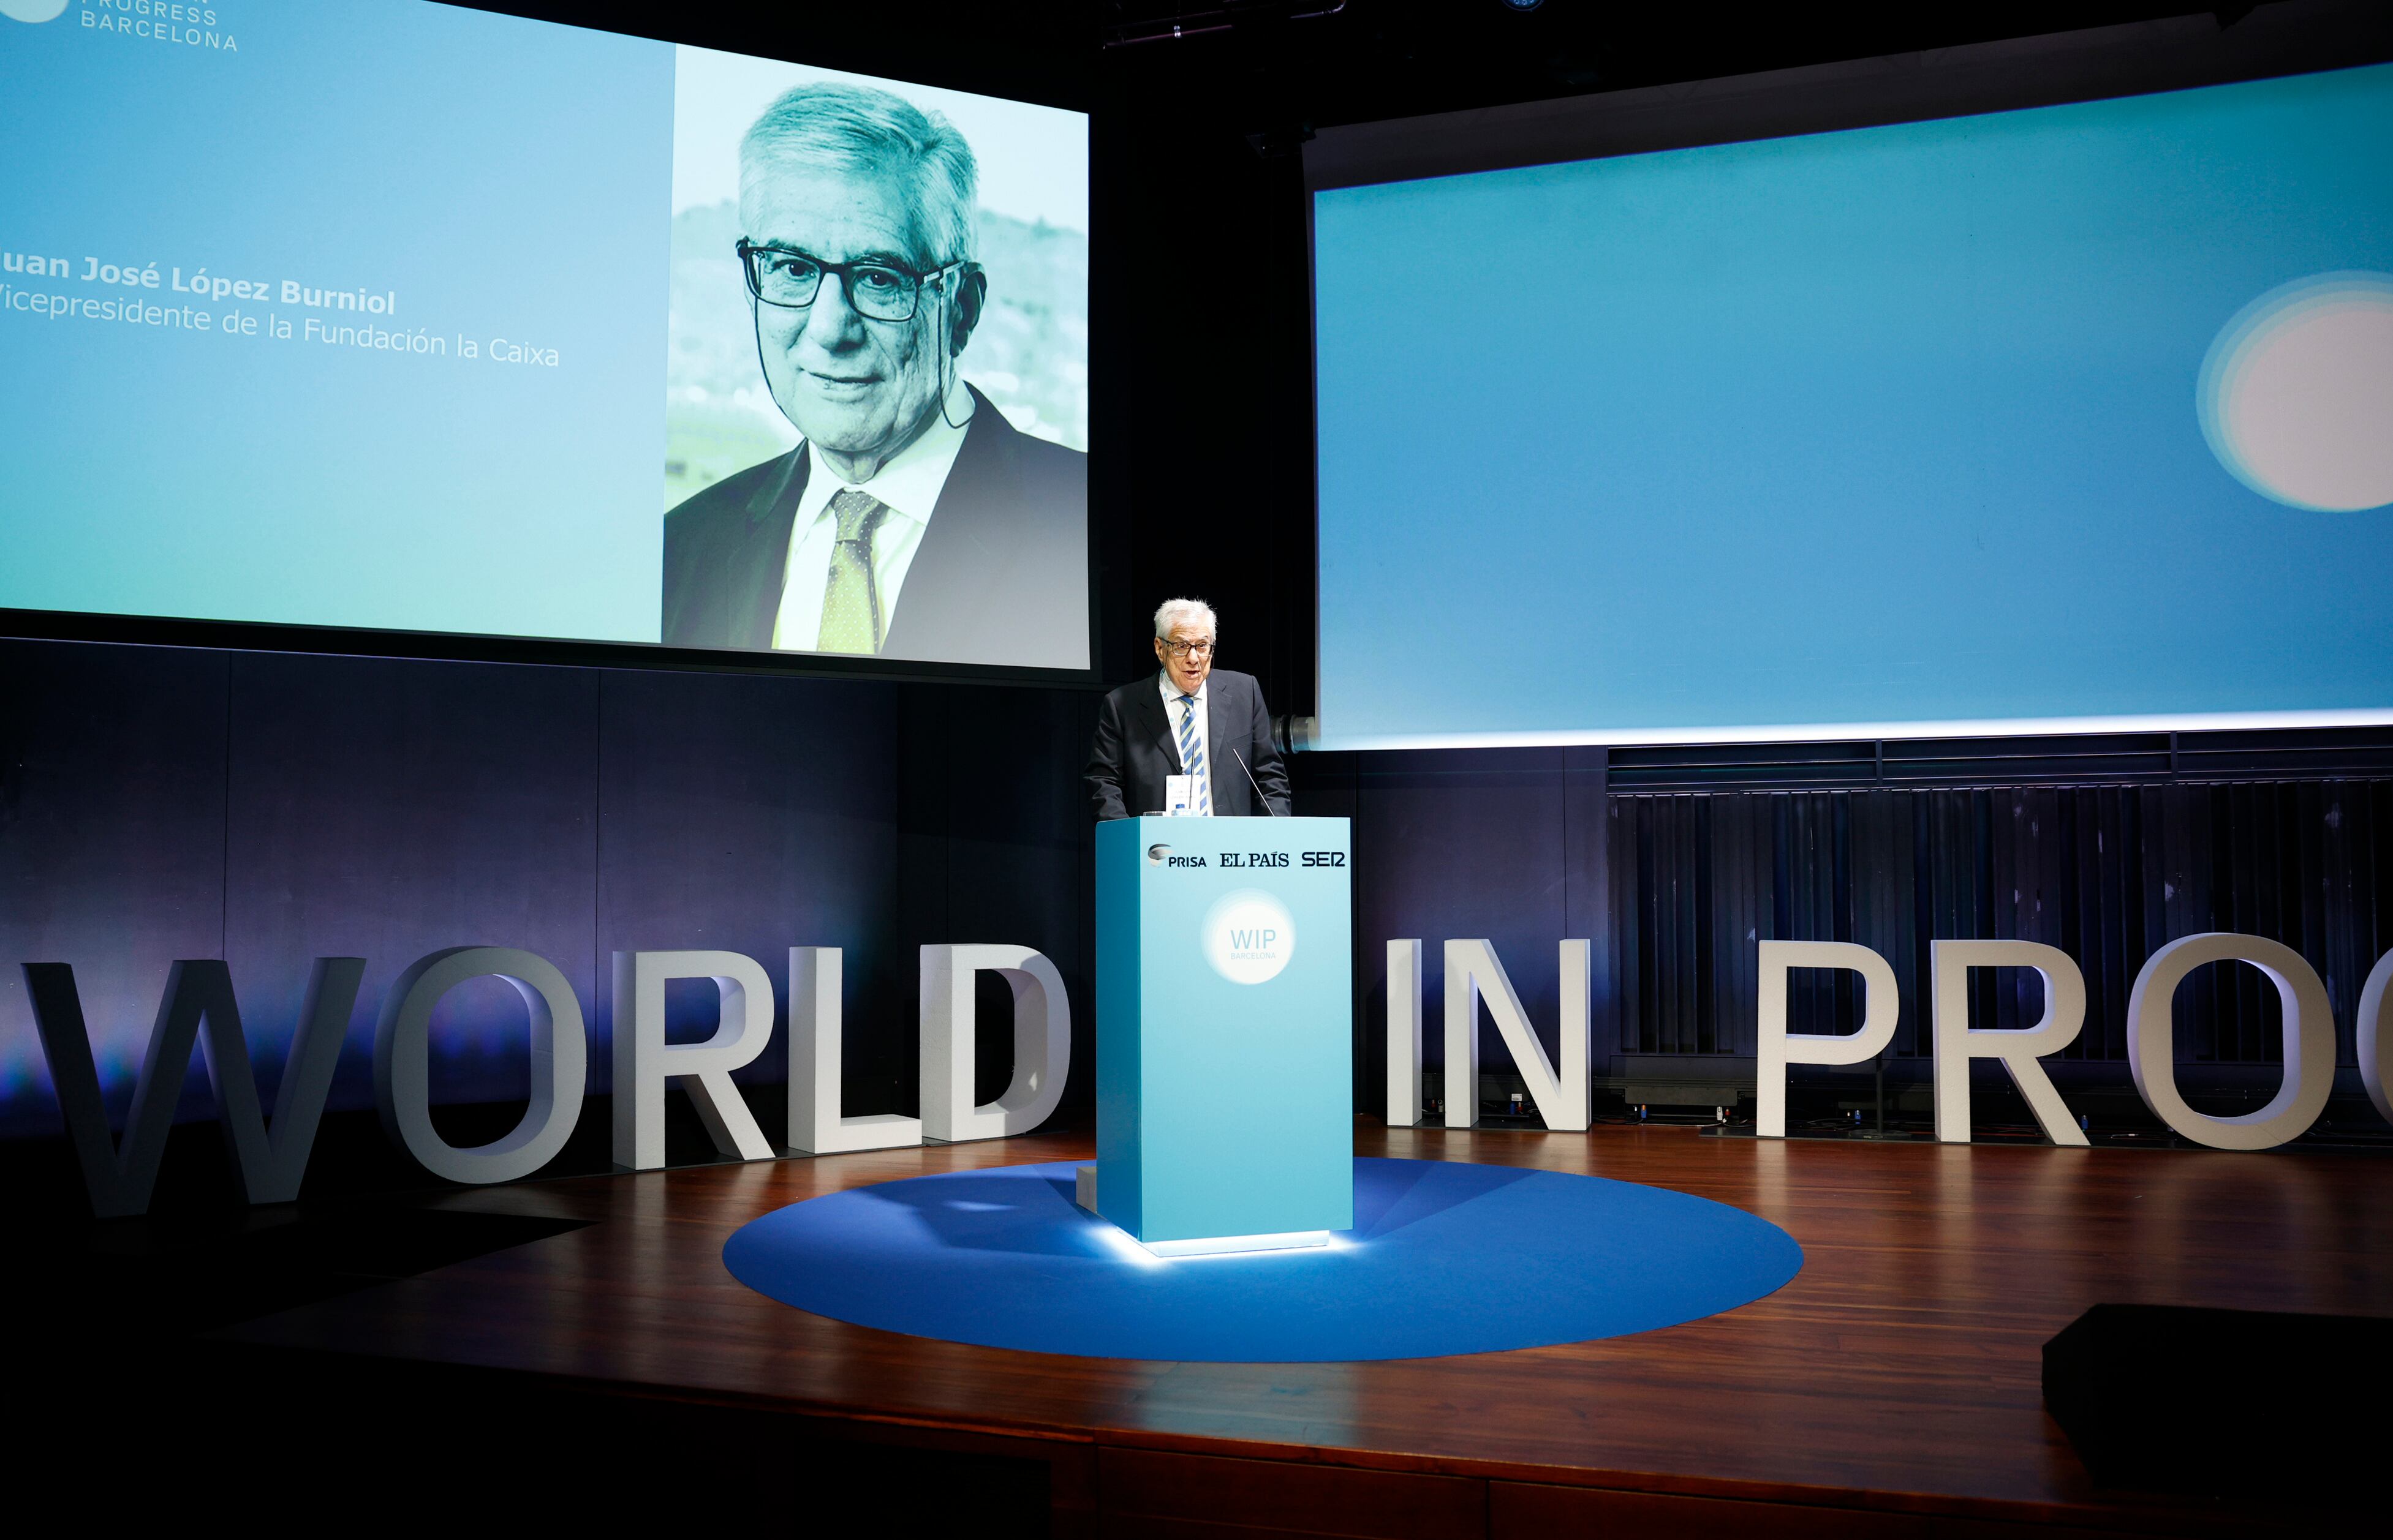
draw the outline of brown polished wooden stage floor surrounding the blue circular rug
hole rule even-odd
[[[732,1229],[816,1193],[1089,1157],[1086,1138],[1015,1138],[457,1193],[591,1224],[230,1337],[1034,1459],[1055,1533],[1876,1538],[2300,1530],[2091,1487],[2044,1413],[2039,1349],[2099,1301],[2393,1315],[2393,1162],[2374,1157],[1376,1124],[1357,1153],[1673,1186],[1783,1224],[1804,1270],[1637,1337],[1297,1365],[897,1337],[723,1270]]]

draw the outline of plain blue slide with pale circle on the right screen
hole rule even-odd
[[[1326,746],[2393,720],[2393,67],[1328,189],[1314,249]]]

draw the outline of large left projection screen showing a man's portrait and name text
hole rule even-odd
[[[426,0],[5,0],[0,127],[19,634],[1089,670],[1082,112]]]

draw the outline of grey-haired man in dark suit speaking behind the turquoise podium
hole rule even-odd
[[[1156,610],[1163,672],[1106,696],[1089,741],[1089,803],[1103,818],[1163,811],[1163,777],[1189,775],[1192,813],[1287,818],[1287,770],[1254,674],[1213,670],[1213,607],[1170,598]]]

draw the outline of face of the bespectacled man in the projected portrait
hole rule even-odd
[[[749,242],[821,263],[878,263],[907,280],[938,268],[895,175],[780,167],[751,189],[742,215]],[[924,280],[905,320],[859,311],[852,282],[826,270],[804,308],[756,304],[756,344],[766,385],[797,430],[869,478],[940,409],[948,349],[960,352],[976,320],[979,275]],[[876,308],[905,306],[883,294]]]

